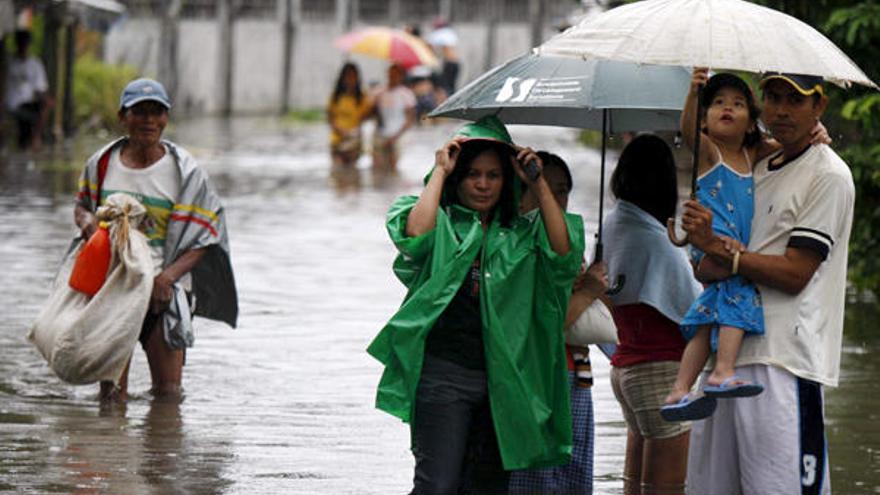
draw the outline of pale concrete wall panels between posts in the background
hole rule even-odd
[[[190,115],[213,114],[222,108],[220,26],[214,20],[182,19],[179,24],[176,111]],[[107,35],[105,60],[137,67],[145,76],[158,77],[160,21],[130,18]],[[455,25],[459,34],[461,72],[459,87],[488,68],[531,47],[526,23],[497,24],[494,49],[489,50],[489,25]],[[235,113],[272,113],[281,107],[284,65],[281,19],[243,19],[233,24],[232,110]],[[428,31],[427,29],[425,30]],[[323,107],[333,89],[346,55],[333,47],[342,34],[337,23],[302,22],[294,39],[292,80],[288,96],[292,108]],[[548,31],[547,36],[551,33]],[[490,57],[491,55],[491,57]],[[364,82],[384,81],[386,62],[352,57]]]

